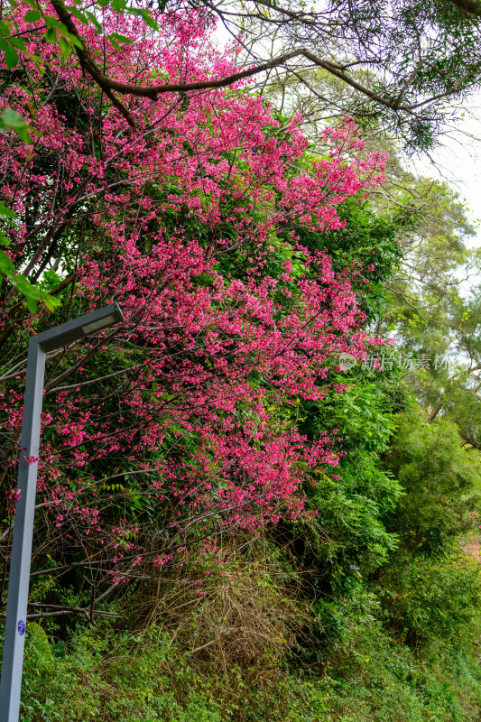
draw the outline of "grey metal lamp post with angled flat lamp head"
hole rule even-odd
[[[78,341],[121,320],[124,320],[124,316],[120,307],[117,303],[110,303],[79,319],[32,336],[29,342],[0,683],[0,722],[17,722],[20,711],[46,352]]]

